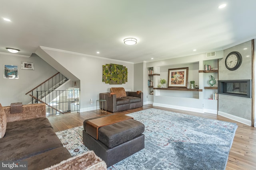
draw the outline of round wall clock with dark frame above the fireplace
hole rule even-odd
[[[242,63],[242,55],[237,51],[233,51],[229,53],[225,60],[226,68],[228,68],[228,70],[230,71],[234,71],[238,69],[241,63]]]

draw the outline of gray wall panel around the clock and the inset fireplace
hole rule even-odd
[[[247,49],[245,49],[247,48]],[[234,71],[230,71],[225,66],[226,56],[238,51],[242,55],[241,66]],[[219,80],[247,80],[252,79],[252,43],[247,41],[224,50],[224,58],[219,60]],[[246,57],[247,56],[247,57]],[[238,96],[219,94],[218,111],[228,113],[243,119],[251,120],[252,99]]]

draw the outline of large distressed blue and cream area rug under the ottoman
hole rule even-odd
[[[145,125],[145,148],[108,170],[224,170],[236,123],[160,109],[127,114]],[[72,156],[87,151],[83,127],[56,134]]]

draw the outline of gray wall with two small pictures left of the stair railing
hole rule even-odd
[[[22,61],[34,62],[35,69],[22,70]],[[18,66],[19,79],[3,78],[4,65]],[[58,72],[35,54],[26,58],[8,53],[0,53],[0,70],[2,70],[2,78],[0,78],[0,103],[2,106],[10,106],[11,103],[16,102],[28,104],[32,99],[30,96],[25,95],[26,92]]]

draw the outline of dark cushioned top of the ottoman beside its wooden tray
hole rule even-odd
[[[128,119],[103,126],[98,129],[98,140],[108,148],[113,148],[144,132],[143,123],[134,119]]]

